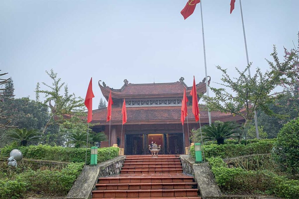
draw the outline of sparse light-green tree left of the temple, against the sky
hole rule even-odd
[[[43,129],[43,133],[45,133],[46,129],[54,124],[60,124],[65,121],[64,115],[74,115],[80,114],[83,112],[85,106],[83,103],[83,99],[80,97],[76,97],[75,94],[68,93],[68,86],[65,82],[61,82],[61,78],[57,78],[57,73],[50,70],[50,72],[46,71],[48,76],[51,78],[52,85],[48,85],[44,82],[42,84],[48,88],[48,90],[41,90],[40,84],[36,85],[36,101],[39,102],[39,94],[45,94],[45,100],[42,103],[45,106],[48,106],[51,109],[50,117],[45,124]],[[61,94],[62,88],[64,89],[64,94]],[[54,101],[54,106],[51,104],[51,101]]]

